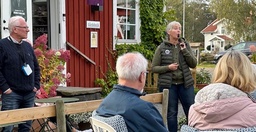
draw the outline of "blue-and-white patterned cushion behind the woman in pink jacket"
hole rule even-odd
[[[199,132],[199,131],[232,131],[232,132],[256,132],[256,126],[238,129],[211,129],[211,130],[198,130],[188,125],[183,125],[180,132]]]

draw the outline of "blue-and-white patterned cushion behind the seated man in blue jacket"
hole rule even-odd
[[[112,117],[103,117],[103,116],[97,115],[96,111],[94,110],[92,112],[92,117],[97,120],[108,123],[110,126],[112,126],[116,130],[116,132],[128,132],[127,127],[125,125],[124,118],[121,115],[115,115]]]

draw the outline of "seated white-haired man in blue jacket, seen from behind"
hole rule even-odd
[[[156,107],[140,99],[146,81],[148,61],[138,52],[126,53],[117,58],[116,71],[119,84],[96,110],[100,116],[124,117],[128,132],[168,132]]]

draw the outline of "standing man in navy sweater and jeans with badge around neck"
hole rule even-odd
[[[0,89],[3,110],[33,107],[40,88],[40,68],[32,46],[22,39],[29,29],[24,18],[11,17],[10,36],[0,40]],[[32,121],[18,125],[18,132],[29,132]],[[2,132],[11,132],[7,126]]]

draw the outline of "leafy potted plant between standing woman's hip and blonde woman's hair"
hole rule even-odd
[[[199,72],[196,72],[196,87],[202,89],[203,87],[211,83],[212,75],[205,68],[200,69]]]

